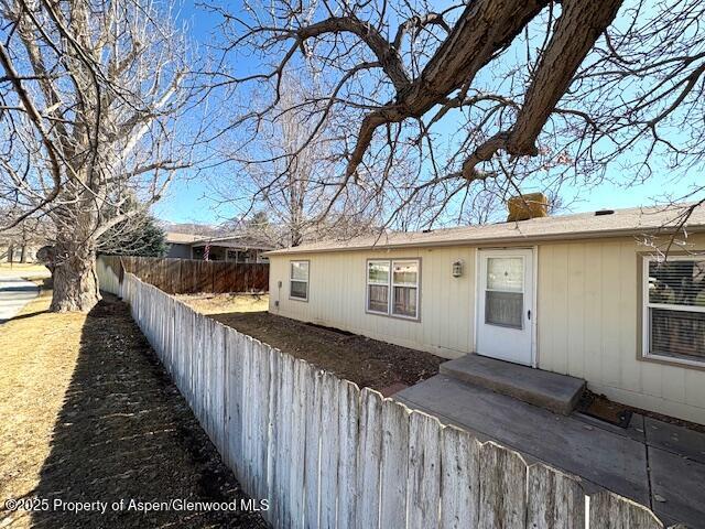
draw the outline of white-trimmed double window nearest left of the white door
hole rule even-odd
[[[367,261],[367,312],[419,319],[419,259]]]

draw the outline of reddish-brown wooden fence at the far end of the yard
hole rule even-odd
[[[118,276],[120,262],[126,272],[169,294],[197,292],[267,292],[269,264],[154,257],[100,256],[105,267]]]

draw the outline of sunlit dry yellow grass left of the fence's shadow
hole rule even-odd
[[[80,349],[86,314],[48,313],[43,291],[20,315],[0,325],[0,498],[31,495],[50,455]],[[29,526],[29,515],[15,523]]]

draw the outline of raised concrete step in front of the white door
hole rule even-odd
[[[479,355],[445,361],[441,373],[565,415],[573,411],[585,389],[585,380],[579,378]]]

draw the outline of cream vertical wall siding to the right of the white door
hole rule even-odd
[[[702,234],[688,242],[705,249]],[[633,238],[539,247],[539,367],[584,378],[612,400],[705,423],[705,370],[640,358],[644,251]]]

